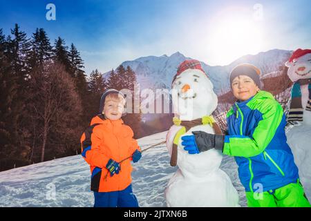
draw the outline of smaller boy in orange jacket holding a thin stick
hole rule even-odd
[[[100,114],[93,117],[81,137],[82,156],[91,167],[94,207],[138,207],[131,187],[130,161],[138,162],[142,154],[132,129],[121,119],[124,110],[124,95],[106,90],[100,100]]]

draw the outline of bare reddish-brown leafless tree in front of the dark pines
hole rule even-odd
[[[32,99],[29,105],[32,111],[32,128],[35,132],[33,139],[39,138],[40,161],[43,162],[48,137],[60,132],[68,132],[71,135],[77,124],[74,121],[81,114],[82,106],[73,79],[61,64],[46,64],[36,68],[30,81]]]

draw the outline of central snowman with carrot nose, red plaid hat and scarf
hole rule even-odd
[[[200,61],[186,60],[172,82],[174,125],[167,133],[171,165],[178,171],[171,177],[164,196],[167,206],[239,206],[238,193],[228,175],[220,170],[222,153],[216,149],[189,154],[181,144],[192,131],[221,133],[213,113],[218,99]]]

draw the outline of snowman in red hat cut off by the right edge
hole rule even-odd
[[[288,122],[296,122],[286,132],[288,145],[299,168],[307,197],[311,198],[311,50],[295,50],[289,61],[288,77],[294,82],[288,102]]]

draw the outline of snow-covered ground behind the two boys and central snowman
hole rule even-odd
[[[165,140],[167,132],[138,140],[147,148]],[[133,191],[140,206],[166,206],[164,189],[177,167],[169,165],[165,144],[150,148],[133,164]],[[221,169],[238,190],[246,206],[244,188],[233,157],[224,157]],[[0,206],[93,206],[90,169],[81,155],[23,166],[0,173]]]

